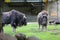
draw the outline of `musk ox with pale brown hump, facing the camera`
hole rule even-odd
[[[40,13],[38,13],[37,21],[38,21],[39,29],[40,29],[40,25],[42,25],[42,29],[44,27],[47,28],[47,21],[48,21],[47,17],[48,17],[48,13],[46,10],[43,10]]]

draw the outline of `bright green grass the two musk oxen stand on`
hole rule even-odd
[[[28,24],[27,26],[17,27],[16,33],[24,33],[28,36],[36,36],[41,40],[60,40],[60,25],[48,25],[47,31],[40,31],[36,23]],[[12,32],[12,27],[10,25],[5,25],[4,33],[9,35],[15,35]]]

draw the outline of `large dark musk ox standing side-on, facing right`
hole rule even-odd
[[[13,31],[17,26],[27,25],[26,16],[22,12],[11,10],[9,12],[2,13],[2,31],[5,24],[11,24]]]

